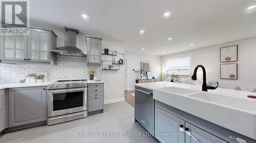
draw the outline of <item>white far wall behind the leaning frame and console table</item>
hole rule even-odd
[[[132,52],[125,52],[125,59],[127,59],[127,90],[134,90],[134,83],[137,79],[137,73],[134,70],[140,69],[140,62],[151,62],[152,75],[160,81],[160,65],[161,56],[138,54]]]

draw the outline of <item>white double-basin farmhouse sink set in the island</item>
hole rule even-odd
[[[153,98],[234,132],[256,139],[256,100],[165,87]]]

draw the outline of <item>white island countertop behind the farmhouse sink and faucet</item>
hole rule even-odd
[[[183,88],[183,89],[189,89],[189,90],[202,91],[202,85],[191,85],[191,84],[175,83],[175,82],[168,82],[168,81],[136,83],[135,85],[141,88],[150,89],[153,91],[153,93],[154,93],[154,89],[156,90],[156,89],[165,88],[165,87],[177,87],[177,88]],[[250,99],[247,96],[248,95],[256,96],[256,93],[254,92],[237,91],[237,90],[229,90],[229,89],[221,89],[221,88],[217,88],[216,90],[208,90],[208,92],[219,94],[219,95],[249,99],[254,101],[255,99]]]

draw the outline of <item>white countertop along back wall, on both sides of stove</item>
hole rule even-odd
[[[44,87],[44,86],[47,86],[48,84],[51,84],[53,82],[55,82],[55,81],[37,82],[37,83],[6,83],[6,84],[0,84],[0,90],[10,89],[10,88]],[[101,81],[88,80],[87,83],[88,84],[104,83],[104,81],[103,80],[101,80]]]

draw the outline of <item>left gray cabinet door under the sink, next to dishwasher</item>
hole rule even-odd
[[[185,121],[155,107],[155,137],[162,143],[184,143]],[[181,130],[180,130],[181,128]],[[170,134],[164,134],[170,133]]]

